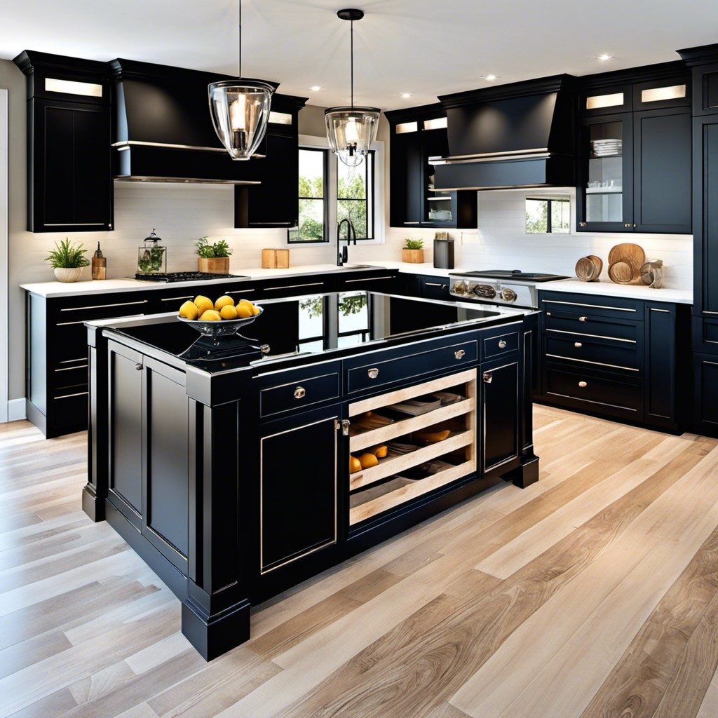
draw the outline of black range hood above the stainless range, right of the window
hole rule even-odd
[[[575,83],[554,75],[440,97],[449,156],[429,159],[434,189],[575,185]]]

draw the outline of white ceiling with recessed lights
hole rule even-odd
[[[347,103],[349,24],[335,14],[345,6],[366,13],[354,26],[355,102],[384,110],[490,84],[482,75],[585,75],[677,60],[675,50],[718,39],[715,0],[351,2],[243,0],[243,74],[315,105]],[[0,57],[39,50],[236,74],[237,17],[237,0],[5,0]]]

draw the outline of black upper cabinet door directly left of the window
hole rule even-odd
[[[266,157],[251,159],[252,180],[236,187],[236,227],[296,227],[299,222],[299,144],[297,136],[267,133]]]

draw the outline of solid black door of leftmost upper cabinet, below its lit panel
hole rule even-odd
[[[35,99],[29,125],[28,229],[112,229],[109,109]]]

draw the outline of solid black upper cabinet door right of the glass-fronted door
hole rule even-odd
[[[691,115],[633,115],[633,226],[636,232],[691,231]]]

